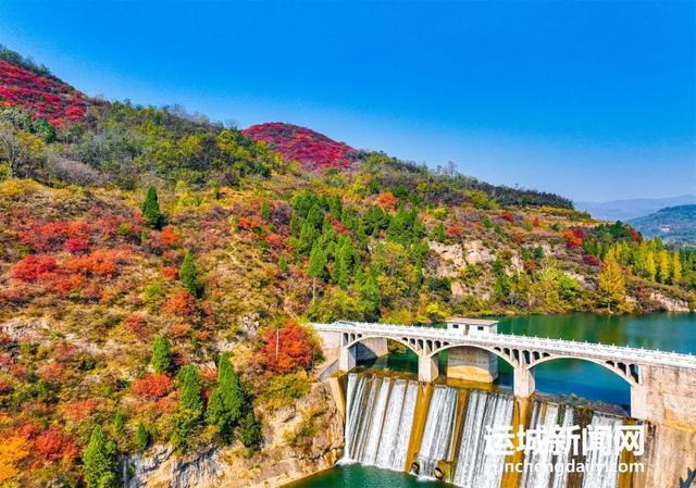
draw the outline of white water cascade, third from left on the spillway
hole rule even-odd
[[[485,452],[486,426],[509,426],[513,399],[501,393],[472,390],[459,443],[452,483],[464,488],[498,488],[505,455]]]

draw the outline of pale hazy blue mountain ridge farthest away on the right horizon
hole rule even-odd
[[[575,202],[575,209],[584,210],[601,221],[627,222],[658,212],[668,207],[689,205],[696,203],[695,195],[682,195],[669,198],[636,198],[631,200],[613,200],[609,202]]]

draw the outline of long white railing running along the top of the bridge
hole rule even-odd
[[[674,351],[667,352],[626,346],[610,346],[513,334],[476,333],[475,335],[464,335],[459,330],[396,324],[339,321],[333,324],[313,325],[319,330],[406,336],[410,338],[448,341],[450,343],[469,343],[487,347],[536,349],[574,356],[589,355],[595,358],[599,356],[604,360],[696,368],[696,356]]]

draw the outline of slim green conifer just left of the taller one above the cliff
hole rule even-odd
[[[187,364],[178,374],[181,396],[174,421],[172,443],[177,447],[186,445],[194,428],[203,414],[202,387],[198,370]]]

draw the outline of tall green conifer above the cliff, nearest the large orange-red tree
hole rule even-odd
[[[224,352],[217,364],[217,386],[208,401],[208,424],[217,428],[225,441],[229,441],[232,429],[241,416],[244,391],[239,377],[229,362],[229,353]]]

